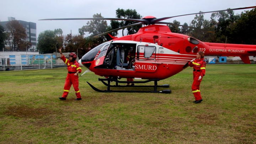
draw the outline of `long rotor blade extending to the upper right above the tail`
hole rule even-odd
[[[196,15],[196,14],[202,14],[202,13],[211,13],[211,12],[221,12],[221,11],[231,11],[231,10],[243,10],[243,9],[252,9],[255,8],[256,6],[250,6],[250,7],[241,7],[241,8],[235,8],[235,9],[226,9],[226,10],[218,10],[218,11],[208,11],[208,12],[197,12],[197,13],[190,13],[190,14],[185,14],[185,15],[178,15],[178,16],[171,16],[171,17],[163,17],[163,18],[156,18],[151,21],[151,23],[156,23],[159,21],[167,20],[169,18],[173,17],[180,17],[180,16],[188,16],[188,15]]]

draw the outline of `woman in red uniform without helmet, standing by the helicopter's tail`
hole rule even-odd
[[[200,83],[202,82],[203,76],[205,75],[205,67],[206,62],[204,60],[204,54],[202,51],[197,52],[197,59],[193,59],[188,62],[190,67],[193,67],[193,84],[192,84],[192,92],[195,97],[194,103],[201,103],[203,101],[201,94],[200,94]]]

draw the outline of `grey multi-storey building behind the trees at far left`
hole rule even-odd
[[[0,24],[6,29],[6,24],[9,21],[15,20],[14,17],[8,17],[8,21],[4,21],[4,22],[0,22]],[[26,41],[30,42],[32,44],[32,46],[28,49],[28,51],[35,51],[36,50],[36,43],[37,43],[37,39],[36,39],[36,23],[33,22],[26,22],[26,21],[21,21],[18,20],[18,22],[26,29],[26,33],[27,33],[27,39]],[[9,47],[9,45],[5,45],[5,47]]]

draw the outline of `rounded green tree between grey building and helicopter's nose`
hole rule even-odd
[[[41,32],[38,35],[37,39],[37,49],[41,54],[46,54],[46,53],[53,53],[56,51],[57,47],[56,44],[58,45],[63,44],[63,39],[61,37],[56,37],[54,31],[44,31]],[[58,50],[57,50],[58,51]]]

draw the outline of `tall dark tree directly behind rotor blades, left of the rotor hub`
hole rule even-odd
[[[131,10],[131,9],[123,10],[123,9],[119,9],[119,8],[116,10],[116,17],[117,18],[130,18],[130,19],[141,19],[142,18],[142,16],[140,16],[140,14],[137,13],[136,10]],[[134,21],[120,21],[119,26],[124,27],[124,26],[128,26],[128,25],[134,24],[134,23],[137,23],[137,22],[134,22]],[[114,24],[116,24],[116,22]],[[111,27],[113,28],[114,25],[111,25]],[[127,35],[137,33],[141,27],[142,27],[142,25],[128,27],[127,28]],[[124,29],[122,31],[122,34],[124,36]]]

